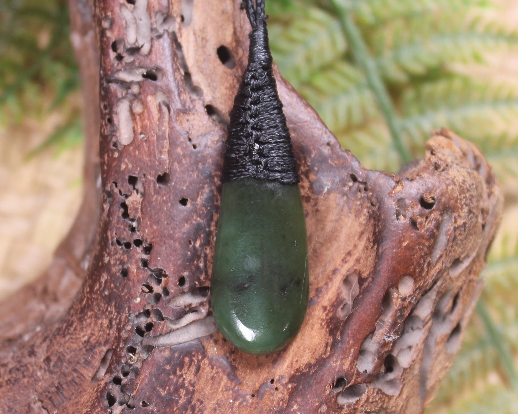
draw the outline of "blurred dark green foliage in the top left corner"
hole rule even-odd
[[[59,108],[61,124],[27,156],[53,146],[57,153],[81,142],[78,105],[64,105],[79,87],[64,0],[0,2],[0,125],[42,119]]]

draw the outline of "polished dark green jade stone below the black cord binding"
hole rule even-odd
[[[276,352],[308,306],[307,234],[298,184],[223,184],[210,296],[223,336],[244,352]]]

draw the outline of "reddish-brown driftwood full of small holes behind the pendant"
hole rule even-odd
[[[70,7],[83,207],[49,270],[0,305],[3,412],[421,412],[461,345],[502,209],[480,151],[443,129],[400,174],[366,170],[276,71],[310,304],[290,346],[244,354],[211,333],[209,293],[248,50],[239,1]]]

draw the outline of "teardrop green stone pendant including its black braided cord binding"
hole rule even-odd
[[[284,348],[308,305],[296,160],[272,74],[264,0],[243,1],[249,63],[230,114],[211,301],[223,336],[251,354]]]

